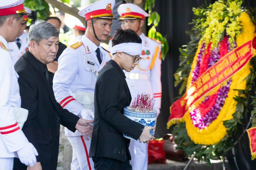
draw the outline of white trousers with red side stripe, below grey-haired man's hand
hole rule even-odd
[[[91,138],[84,136],[67,136],[73,150],[71,170],[94,170],[93,159],[89,158]]]

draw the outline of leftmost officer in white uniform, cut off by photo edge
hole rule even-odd
[[[17,37],[24,13],[24,0],[9,0],[0,2],[0,169],[13,169],[14,157],[22,163],[33,166],[38,155],[35,147],[28,141],[18,126],[14,107],[20,107],[18,75],[14,70],[14,63],[9,53],[8,42]],[[13,15],[17,14],[17,15]],[[7,17],[7,15],[12,15]],[[11,23],[11,25],[10,25]]]

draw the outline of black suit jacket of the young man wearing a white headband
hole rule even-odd
[[[100,71],[95,85],[95,117],[89,157],[107,157],[121,161],[131,159],[130,140],[141,135],[144,126],[123,115],[131,95],[125,74],[113,60]]]

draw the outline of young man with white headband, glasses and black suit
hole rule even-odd
[[[131,95],[123,70],[130,72],[141,58],[141,38],[132,30],[116,30],[112,39],[112,60],[100,71],[95,85],[95,118],[89,157],[97,169],[132,169],[130,139],[148,143],[154,127],[131,121],[123,115]]]

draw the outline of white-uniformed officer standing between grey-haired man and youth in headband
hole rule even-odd
[[[85,17],[87,27],[81,41],[69,46],[60,56],[53,78],[56,100],[70,112],[87,120],[94,119],[94,90],[100,70],[111,59],[110,52],[100,46],[111,31],[114,0],[100,0],[78,12]],[[65,128],[73,148],[72,170],[94,169],[88,157],[91,138],[84,140],[79,132]]]

